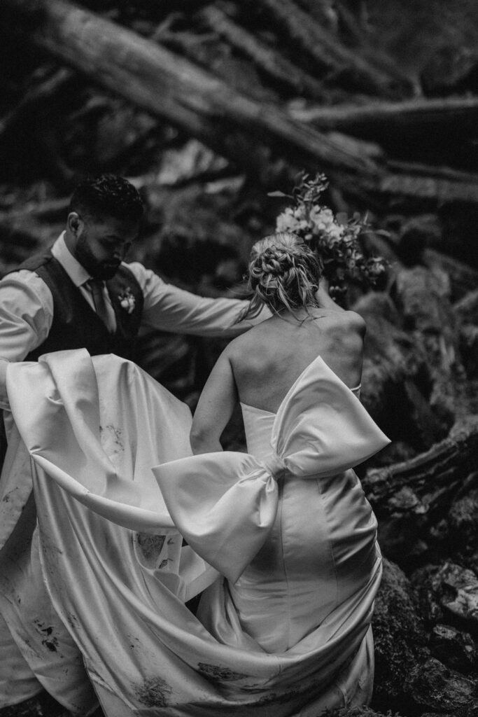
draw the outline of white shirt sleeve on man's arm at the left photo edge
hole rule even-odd
[[[20,270],[0,281],[0,360],[23,361],[48,336],[52,293],[34,272]],[[5,373],[0,371],[0,408],[5,407]],[[7,402],[8,404],[8,402]]]

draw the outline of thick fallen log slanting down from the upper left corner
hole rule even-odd
[[[4,0],[1,14],[54,57],[198,138],[265,184],[279,160],[289,176],[291,168],[292,174],[300,167],[324,171],[371,206],[374,196],[391,195],[434,204],[457,199],[478,204],[474,175],[407,175],[405,167],[401,174],[386,171],[363,156],[357,143],[325,136],[274,105],[231,89],[183,57],[66,1]]]

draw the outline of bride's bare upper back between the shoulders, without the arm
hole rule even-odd
[[[304,315],[302,313],[302,315]],[[239,401],[277,412],[317,356],[350,388],[360,384],[365,322],[352,311],[314,309],[312,318],[273,316],[228,347]]]

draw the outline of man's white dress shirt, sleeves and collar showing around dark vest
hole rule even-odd
[[[68,250],[64,232],[53,244],[52,254],[62,265],[85,300],[95,308],[92,293],[85,283],[91,277]],[[234,326],[247,302],[227,298],[204,298],[163,281],[138,262],[125,264],[138,280],[144,296],[141,326],[160,331],[198,336],[236,336],[256,320]],[[105,288],[107,310],[112,327],[115,313]],[[261,320],[267,318],[266,310]],[[0,281],[0,407],[6,402],[6,362],[23,361],[49,334],[53,321],[53,297],[45,282],[29,270],[19,270]]]

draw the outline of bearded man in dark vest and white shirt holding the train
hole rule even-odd
[[[1,373],[5,361],[67,348],[132,358],[142,326],[199,336],[235,336],[251,326],[234,326],[243,301],[201,298],[138,262],[125,264],[142,216],[126,179],[103,175],[77,186],[52,248],[0,282]]]

